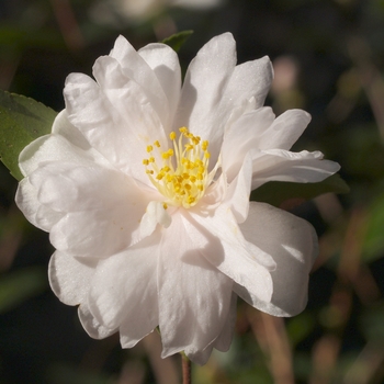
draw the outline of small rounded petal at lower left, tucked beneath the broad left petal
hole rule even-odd
[[[67,305],[83,303],[97,266],[98,260],[79,260],[56,251],[48,266],[49,284],[55,295]]]

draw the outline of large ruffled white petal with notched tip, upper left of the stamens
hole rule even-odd
[[[70,122],[116,168],[151,187],[143,166],[146,148],[156,139],[166,143],[153,105],[115,59],[99,58],[94,74],[101,86],[80,74],[67,78],[64,94]]]

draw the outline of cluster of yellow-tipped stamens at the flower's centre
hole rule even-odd
[[[177,139],[174,132],[169,134],[173,149],[161,150],[160,143],[147,146],[149,158],[144,159],[151,183],[166,197],[167,204],[189,208],[195,205],[204,195],[211,183],[208,174],[210,153],[208,142],[201,142],[199,136],[191,134],[187,127],[179,128],[180,136]],[[183,144],[183,142],[188,142]],[[154,151],[161,159],[161,166],[156,162]]]

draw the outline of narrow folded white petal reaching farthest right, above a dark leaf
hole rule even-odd
[[[282,149],[252,151],[252,190],[267,181],[318,182],[340,169],[337,162],[323,160],[320,151],[291,153]]]

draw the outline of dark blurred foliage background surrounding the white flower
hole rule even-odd
[[[226,31],[239,63],[269,55],[266,104],[308,111],[294,149],[340,162],[351,189],[284,204],[319,235],[306,310],[279,319],[239,302],[229,352],[194,366],[193,382],[384,383],[383,0],[1,0],[0,88],[60,111],[66,76],[91,75],[118,34],[139,48],[183,30],[194,30],[184,69]],[[0,166],[0,384],[179,383],[180,358],[159,358],[156,332],[132,350],[92,340],[54,296],[47,234],[19,212]]]

